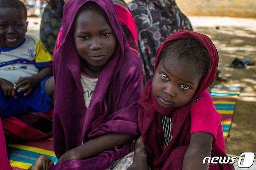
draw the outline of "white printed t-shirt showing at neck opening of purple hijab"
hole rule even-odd
[[[85,75],[84,73],[81,74],[81,83],[86,108],[88,108],[91,102],[91,97],[93,96],[93,91],[96,87],[97,82],[98,78],[91,78],[88,75]]]

